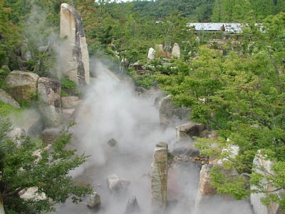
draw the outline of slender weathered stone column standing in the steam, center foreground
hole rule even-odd
[[[167,206],[167,143],[157,143],[151,165],[152,207],[156,209]]]

